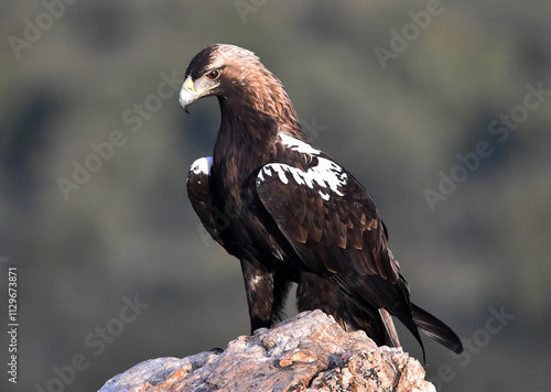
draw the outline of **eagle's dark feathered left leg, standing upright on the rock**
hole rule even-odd
[[[289,283],[282,281],[273,271],[241,260],[241,270],[249,306],[250,331],[270,328],[280,317]]]

